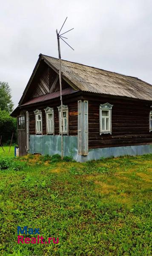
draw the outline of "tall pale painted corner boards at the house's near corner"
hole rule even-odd
[[[88,101],[78,100],[78,154],[88,155]]]

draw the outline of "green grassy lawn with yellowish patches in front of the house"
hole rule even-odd
[[[75,163],[57,156],[12,158],[14,148],[10,154],[4,149],[0,255],[152,255],[152,155]],[[45,241],[59,243],[17,244],[17,226],[39,228]]]

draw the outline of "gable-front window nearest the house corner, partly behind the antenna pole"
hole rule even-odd
[[[61,133],[61,105],[57,107],[59,111],[59,133]],[[63,134],[68,134],[68,106],[63,105]]]

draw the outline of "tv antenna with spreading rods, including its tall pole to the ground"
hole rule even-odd
[[[66,22],[67,17],[64,21]],[[57,45],[58,45],[58,53],[59,53],[59,80],[60,80],[60,102],[61,102],[61,118],[60,118],[60,111],[59,111],[59,119],[60,119],[60,129],[61,129],[61,158],[63,159],[63,102],[62,102],[62,79],[61,79],[61,51],[60,51],[60,39],[62,39],[72,50],[74,50],[63,38],[68,39],[64,37],[63,35],[67,32],[71,31],[72,29],[69,29],[68,31],[61,34],[61,30],[64,26],[64,23],[60,29],[59,32],[57,32]],[[74,29],[74,28],[73,28]]]

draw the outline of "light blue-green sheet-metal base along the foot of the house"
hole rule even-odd
[[[30,135],[29,146],[30,154],[61,154],[61,136]],[[152,154],[152,144],[89,149],[89,154],[87,156],[81,156],[77,154],[77,136],[63,136],[63,152],[64,156],[72,155],[77,162],[86,162],[89,160],[98,160],[100,157]]]

